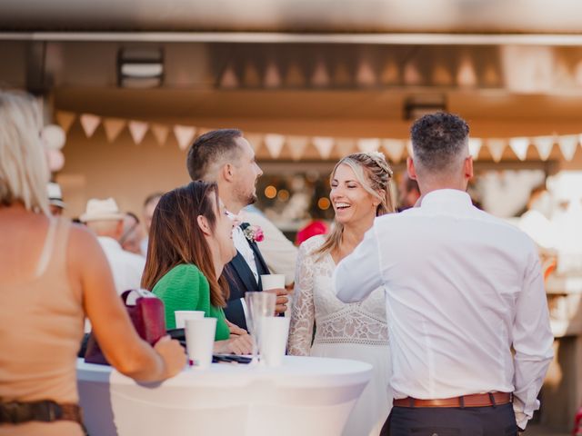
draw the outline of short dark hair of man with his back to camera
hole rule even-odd
[[[468,134],[469,126],[456,114],[437,112],[419,118],[410,129],[415,161],[431,172],[447,171],[457,163]]]

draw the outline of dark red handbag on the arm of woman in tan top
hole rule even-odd
[[[164,302],[145,289],[125,291],[121,294],[125,309],[134,324],[135,332],[150,345],[154,345],[166,335]],[[85,362],[108,365],[99,348],[95,335],[91,332],[85,352]]]

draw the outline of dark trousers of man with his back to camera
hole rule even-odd
[[[381,436],[517,436],[511,403],[488,407],[394,407]]]

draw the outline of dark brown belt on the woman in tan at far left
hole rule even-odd
[[[0,424],[29,421],[75,421],[83,425],[83,414],[77,404],[59,404],[50,400],[0,402]]]

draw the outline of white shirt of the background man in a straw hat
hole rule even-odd
[[[128,289],[139,289],[146,259],[139,254],[126,252],[113,238],[98,236],[97,240],[113,272],[117,293],[121,294]]]

